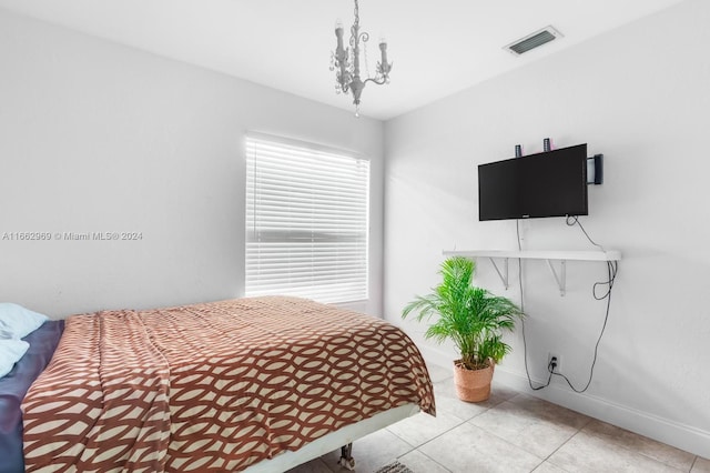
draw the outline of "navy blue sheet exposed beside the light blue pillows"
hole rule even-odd
[[[20,403],[32,382],[50,362],[64,330],[64,321],[47,321],[26,336],[27,353],[0,378],[0,473],[24,471]]]

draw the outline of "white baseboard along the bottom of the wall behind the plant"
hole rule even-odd
[[[452,363],[452,355],[428,346],[420,348],[420,350],[424,358],[429,362],[442,366],[448,366]],[[495,382],[704,459],[710,459],[710,432],[692,425],[686,425],[660,417],[653,413],[616,404],[587,393],[575,393],[556,385],[549,385],[540,391],[532,391],[525,374],[510,371],[505,365],[496,366]],[[538,385],[542,384],[544,381],[532,380],[532,383]]]

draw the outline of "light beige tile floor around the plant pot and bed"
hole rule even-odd
[[[356,472],[399,460],[415,473],[708,472],[710,460],[537,397],[494,388],[458,401],[450,370],[430,366],[437,416],[417,414],[355,442]],[[333,452],[288,473],[345,472]]]

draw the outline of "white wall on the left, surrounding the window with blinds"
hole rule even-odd
[[[241,295],[252,130],[372,159],[382,312],[382,122],[3,10],[0,64],[0,301],[59,318]],[[129,231],[143,239],[2,240]]]

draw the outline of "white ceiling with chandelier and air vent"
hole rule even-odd
[[[368,84],[361,113],[389,119],[682,0],[359,0],[361,27],[384,36],[389,85]],[[353,0],[0,0],[88,34],[353,110],[328,70],[334,24]],[[504,46],[548,24],[565,37],[515,57]]]

